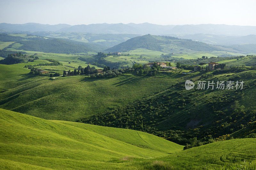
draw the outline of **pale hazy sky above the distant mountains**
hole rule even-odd
[[[256,0],[0,0],[0,23],[256,26]]]

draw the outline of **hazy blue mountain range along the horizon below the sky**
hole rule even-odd
[[[235,26],[223,24],[199,24],[199,25],[156,25],[150,23],[142,24],[89,24],[75,25],[68,24],[7,24],[1,23],[0,30],[3,31],[57,31],[57,32],[84,32],[84,33],[133,33],[133,34],[213,34],[245,36],[256,34],[256,26]]]

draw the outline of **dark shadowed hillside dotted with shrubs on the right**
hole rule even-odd
[[[170,73],[171,74],[171,73]],[[179,144],[200,144],[210,139],[232,134],[255,121],[255,70],[238,73],[192,73],[168,90],[138,100],[111,111],[80,119],[96,125],[129,128],[148,133]],[[164,78],[164,76],[162,76]],[[170,78],[167,75],[165,78]],[[186,80],[195,83],[193,90],[185,90]],[[197,90],[198,81],[244,81],[242,90]],[[216,87],[216,85],[215,85]]]

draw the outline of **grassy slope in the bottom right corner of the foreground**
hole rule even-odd
[[[239,169],[244,160],[255,169],[256,139],[233,139],[215,142],[156,159],[134,159],[133,165],[140,169]],[[244,166],[244,169],[246,166]],[[223,168],[225,169],[225,168]],[[242,167],[240,166],[240,169]]]

